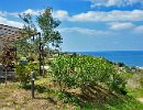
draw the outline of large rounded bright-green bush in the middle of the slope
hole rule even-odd
[[[85,88],[94,84],[122,88],[124,80],[120,74],[113,64],[101,57],[59,55],[52,62],[52,77],[65,88]]]

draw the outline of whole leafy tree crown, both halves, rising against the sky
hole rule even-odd
[[[52,8],[46,8],[34,19],[30,13],[20,14],[20,18],[24,22],[24,28],[21,31],[23,38],[16,42],[19,53],[28,56],[28,53],[37,54],[40,48],[54,47],[59,50],[62,36],[55,29],[61,22],[52,16]],[[33,22],[34,20],[36,22]],[[40,29],[38,32],[37,29]]]

